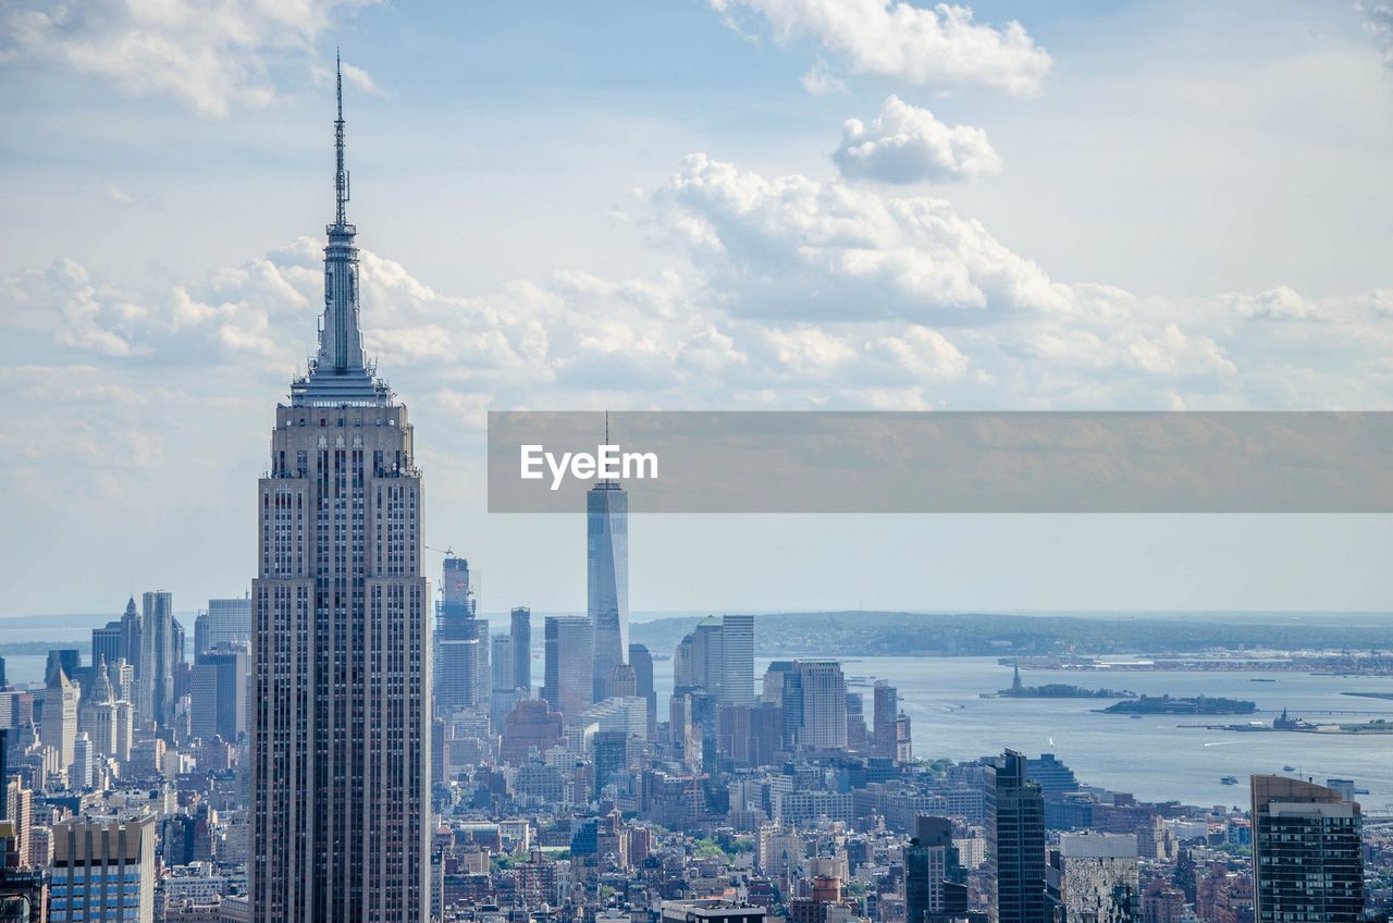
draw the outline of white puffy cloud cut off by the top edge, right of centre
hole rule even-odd
[[[738,10],[765,17],[780,42],[811,39],[853,74],[935,91],[1039,92],[1050,56],[1020,22],[978,22],[970,7],[932,8],[905,0],[710,0],[730,20]],[[805,79],[807,85],[807,79]],[[818,85],[818,84],[815,84]]]

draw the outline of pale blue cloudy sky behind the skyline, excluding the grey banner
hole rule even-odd
[[[1393,7],[0,4],[0,613],[249,584],[345,61],[366,342],[428,542],[489,409],[1393,409]],[[1393,521],[635,517],[635,609],[1375,609]],[[435,569],[435,558],[430,558]]]

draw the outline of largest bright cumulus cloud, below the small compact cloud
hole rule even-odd
[[[939,198],[766,178],[695,153],[653,202],[659,227],[738,315],[974,323],[1074,304],[1067,286]]]

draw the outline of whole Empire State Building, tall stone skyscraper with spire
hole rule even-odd
[[[364,357],[338,91],[319,353],[276,407],[258,484],[251,919],[425,923],[422,480],[407,409]]]

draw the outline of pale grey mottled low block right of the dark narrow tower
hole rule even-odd
[[[1137,923],[1134,834],[1060,834],[1045,870],[1053,923]]]

